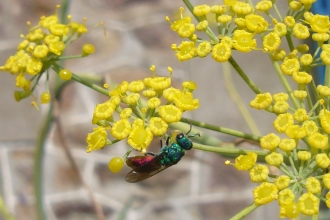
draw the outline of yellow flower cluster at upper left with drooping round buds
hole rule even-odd
[[[37,26],[32,27],[30,22],[28,25],[30,26],[29,33],[21,35],[23,40],[17,46],[17,53],[10,56],[5,65],[0,66],[0,70],[16,75],[16,87],[20,89],[15,91],[17,101],[33,93],[44,72],[47,73],[48,85],[50,69],[57,72],[63,80],[71,79],[72,73],[62,68],[57,61],[66,59],[62,55],[68,45],[87,33],[84,23],[71,21],[71,16],[68,15],[68,23],[61,24],[56,13],[48,17],[42,16]],[[93,45],[85,44],[82,54],[75,58],[88,56],[94,51]],[[42,104],[50,101],[49,88],[47,90],[41,94]],[[37,107],[35,98],[32,104]]]

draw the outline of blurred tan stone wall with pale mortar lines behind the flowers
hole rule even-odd
[[[191,1],[196,4],[222,4],[222,1]],[[278,1],[285,12],[286,1]],[[28,31],[27,21],[36,25],[43,15],[54,13],[56,0],[0,0],[0,63],[16,53],[20,34]],[[281,5],[282,4],[282,5]],[[107,82],[120,83],[150,76],[150,65],[156,65],[157,74],[168,76],[171,66],[176,86],[185,80],[194,80],[198,89],[194,96],[200,108],[185,117],[231,129],[251,133],[236,103],[228,92],[231,80],[248,105],[254,93],[235,74],[225,76],[223,66],[209,56],[180,63],[171,50],[171,44],[181,39],[165,21],[179,16],[182,1],[168,0],[73,0],[69,6],[72,20],[87,18],[89,33],[70,46],[67,55],[79,54],[84,43],[92,43],[96,53],[65,62],[66,68],[76,74],[97,74]],[[282,7],[282,8],[281,8]],[[187,14],[188,11],[186,11]],[[102,27],[105,22],[106,35]],[[260,45],[260,44],[259,44]],[[283,90],[268,57],[261,51],[249,54],[233,53],[238,64],[263,90],[271,93]],[[229,78],[231,79],[229,79]],[[8,209],[19,220],[37,219],[33,186],[35,143],[43,129],[48,106],[40,111],[30,106],[30,99],[14,100],[15,77],[1,73],[0,80],[0,186]],[[38,92],[45,91],[44,85]],[[226,220],[253,202],[252,184],[247,172],[238,172],[225,166],[226,158],[191,150],[179,164],[136,184],[125,182],[130,171],[111,173],[107,163],[114,156],[123,156],[128,147],[119,142],[104,150],[86,153],[86,135],[93,126],[91,118],[96,104],[106,97],[78,83],[69,84],[61,94],[58,107],[61,131],[51,124],[44,148],[43,194],[48,219],[98,219],[95,204],[101,207],[105,219],[203,219]],[[250,110],[261,135],[273,131],[275,115]],[[236,138],[219,133],[210,135],[233,142]],[[69,155],[61,141],[69,146]],[[242,147],[251,148],[248,144]],[[159,148],[159,140],[153,144]],[[75,162],[79,170],[77,175]],[[81,181],[80,176],[84,179]],[[92,192],[92,196],[91,193]],[[93,198],[93,199],[91,199]],[[278,205],[273,202],[255,210],[246,219],[279,219]],[[0,217],[1,219],[1,217]]]

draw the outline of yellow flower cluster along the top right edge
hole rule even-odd
[[[193,24],[190,17],[184,17],[181,8],[181,18],[174,22],[166,17],[171,23],[171,29],[176,32],[182,41],[180,45],[173,44],[172,49],[180,61],[194,57],[206,57],[211,53],[212,58],[217,62],[227,61],[232,50],[239,52],[251,52],[262,49],[268,52],[274,60],[283,60],[285,51],[280,48],[283,37],[289,35],[304,40],[310,36],[319,44],[321,49],[321,60],[308,54],[306,48],[296,48],[291,51],[292,56],[286,57],[283,61],[284,73],[291,75],[293,69],[290,65],[298,63],[298,52],[302,53],[300,62],[302,66],[330,63],[330,49],[323,45],[329,39],[329,17],[313,15],[307,11],[315,0],[289,1],[289,13],[282,19],[270,15],[272,8],[276,9],[275,1],[262,0],[255,7],[245,1],[224,0],[224,5],[198,5],[193,7],[193,14],[198,24]],[[263,15],[265,15],[263,17]],[[304,20],[301,20],[303,15]],[[271,19],[269,23],[267,18]],[[218,34],[212,31],[212,25],[216,22]],[[203,39],[197,36],[197,32],[205,32],[210,39]],[[261,47],[257,48],[256,37],[262,39]],[[299,65],[299,64],[296,64]],[[296,66],[294,67],[296,68]]]

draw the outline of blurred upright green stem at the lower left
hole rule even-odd
[[[40,220],[47,219],[44,212],[44,197],[43,197],[43,159],[44,159],[44,146],[47,135],[50,131],[50,124],[53,120],[53,104],[49,104],[48,114],[46,116],[45,121],[43,122],[43,126],[41,128],[41,132],[39,134],[35,156],[34,156],[34,167],[33,167],[33,181],[34,181],[34,190],[36,197],[36,206],[37,206],[37,216]]]

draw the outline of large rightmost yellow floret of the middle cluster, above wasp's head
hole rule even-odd
[[[192,111],[199,107],[198,99],[193,99],[190,92],[177,92],[174,95],[174,103],[182,111]]]

